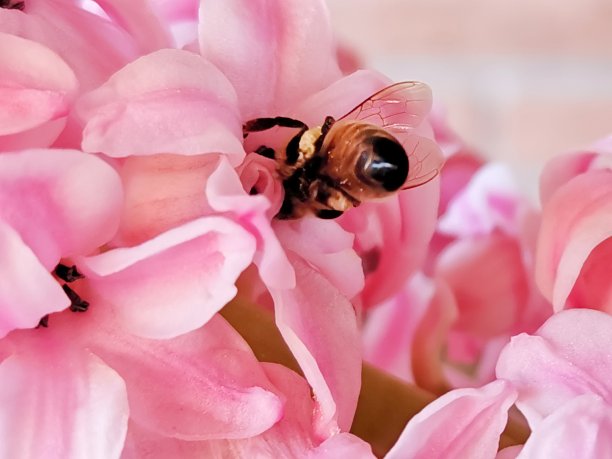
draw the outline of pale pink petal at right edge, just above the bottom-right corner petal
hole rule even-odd
[[[517,406],[529,425],[581,394],[612,402],[612,317],[590,309],[552,316],[536,336],[512,338],[497,363],[499,378],[519,392]]]

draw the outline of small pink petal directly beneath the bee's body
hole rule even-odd
[[[335,221],[303,218],[278,221],[274,230],[285,250],[314,266],[346,298],[363,289],[361,258],[353,250],[353,234]]]

